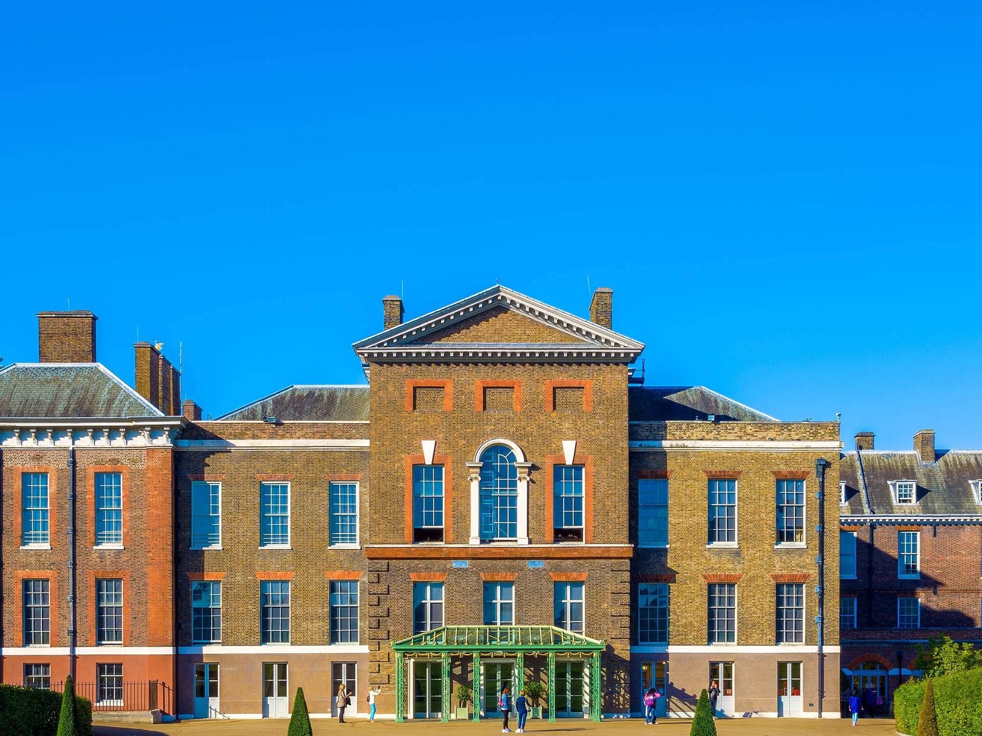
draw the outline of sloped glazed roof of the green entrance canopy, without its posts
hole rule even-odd
[[[590,639],[557,626],[441,626],[392,642],[394,652],[411,655],[494,655],[501,650],[526,655],[591,655],[603,652],[606,646],[605,640]]]

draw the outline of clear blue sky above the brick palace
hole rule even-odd
[[[387,293],[588,277],[649,383],[982,447],[980,13],[4,3],[0,354],[70,297],[217,416],[360,382]]]

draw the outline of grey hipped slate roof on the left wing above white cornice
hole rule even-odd
[[[101,363],[14,363],[0,370],[6,419],[163,415]]]

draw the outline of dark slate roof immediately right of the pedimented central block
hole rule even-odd
[[[632,422],[705,420],[710,414],[721,421],[779,421],[705,386],[635,387],[628,390],[627,401]]]

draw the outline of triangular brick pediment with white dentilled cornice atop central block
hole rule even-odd
[[[496,285],[355,342],[362,360],[632,362],[640,342]]]

